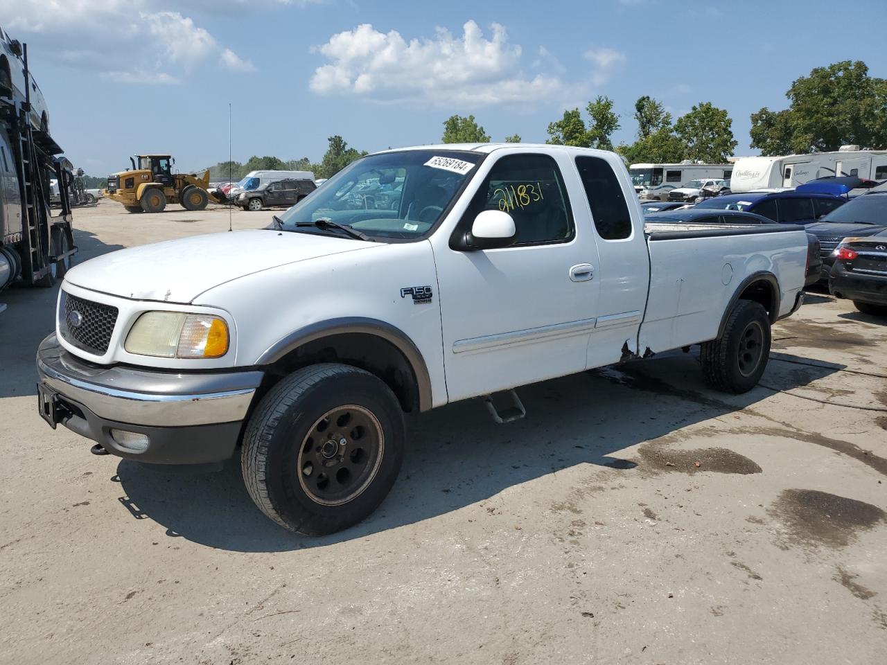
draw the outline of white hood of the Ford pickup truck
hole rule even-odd
[[[311,233],[213,233],[111,252],[75,266],[65,281],[134,300],[187,303],[214,286],[255,272],[381,246]]]

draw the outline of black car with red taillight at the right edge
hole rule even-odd
[[[887,316],[887,231],[844,239],[833,253],[828,291],[866,314]]]

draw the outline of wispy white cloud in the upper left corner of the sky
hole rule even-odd
[[[200,0],[179,2],[177,9],[183,4]],[[255,69],[192,18],[149,0],[0,0],[0,15],[12,17],[4,27],[13,37],[20,34],[46,55],[93,69],[106,81],[175,83],[213,59],[232,71]],[[123,71],[127,63],[134,68]]]

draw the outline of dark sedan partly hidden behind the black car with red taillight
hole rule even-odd
[[[869,192],[836,207],[807,232],[820,239],[822,282],[828,282],[832,253],[845,238],[867,238],[887,230],[887,192]]]

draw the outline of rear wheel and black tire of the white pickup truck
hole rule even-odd
[[[739,395],[757,386],[770,358],[770,319],[759,302],[737,301],[719,340],[703,342],[703,376],[710,386]]]

